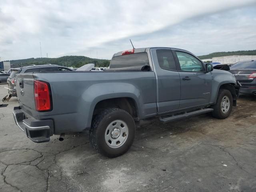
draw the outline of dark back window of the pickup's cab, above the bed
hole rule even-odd
[[[146,52],[142,52],[113,57],[110,63],[110,69],[140,68],[145,65],[149,66],[148,54]]]

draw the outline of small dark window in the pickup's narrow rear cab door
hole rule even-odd
[[[171,50],[156,50],[156,55],[160,68],[167,70],[177,70]]]

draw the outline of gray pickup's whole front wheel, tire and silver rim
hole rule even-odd
[[[220,89],[217,97],[216,104],[212,106],[214,111],[212,116],[218,119],[227,118],[233,107],[233,97],[229,90]]]

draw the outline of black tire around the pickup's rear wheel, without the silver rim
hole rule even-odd
[[[124,137],[127,136],[127,138],[120,147],[112,148],[109,146],[109,144],[107,144],[105,140],[105,134],[107,132],[108,126],[110,126],[111,123],[116,120],[123,121],[127,125],[128,134],[124,134]],[[121,137],[121,134],[119,135]],[[129,150],[130,146],[132,145],[134,136],[134,119],[128,112],[118,108],[108,108],[100,112],[100,114],[96,115],[96,117],[93,119],[92,126],[90,128],[90,144],[100,154],[110,158],[114,158],[126,153]]]

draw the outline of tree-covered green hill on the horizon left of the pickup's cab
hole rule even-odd
[[[28,66],[31,64],[42,65],[42,64],[56,64],[63,65],[67,67],[78,68],[88,63],[94,63],[96,67],[108,67],[110,60],[105,59],[95,59],[85,56],[63,56],[59,58],[29,58],[29,59],[19,59],[19,60],[10,60],[11,67]]]

